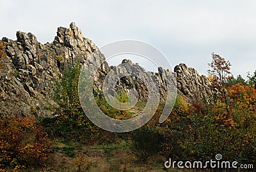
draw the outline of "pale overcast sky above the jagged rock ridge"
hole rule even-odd
[[[235,77],[246,78],[248,71],[256,70],[253,0],[0,0],[0,4],[0,38],[15,40],[16,32],[24,31],[41,43],[52,42],[57,27],[76,22],[97,47],[124,39],[144,41],[160,50],[172,68],[183,62],[207,75],[214,52],[231,62]]]

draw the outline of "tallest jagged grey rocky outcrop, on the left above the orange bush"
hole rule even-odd
[[[94,53],[104,58],[75,23],[59,27],[52,43],[42,45],[31,33],[17,32],[17,40],[3,38],[7,57],[1,58],[0,115],[51,114],[52,85],[61,71]]]

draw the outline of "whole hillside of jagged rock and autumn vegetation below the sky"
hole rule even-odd
[[[182,63],[152,72],[100,50],[74,22],[52,43],[0,41],[0,171],[255,169],[256,71],[232,78],[212,53],[209,78]]]

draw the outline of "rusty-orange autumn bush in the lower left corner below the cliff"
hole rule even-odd
[[[43,166],[51,154],[51,141],[33,116],[0,119],[1,166]],[[1,167],[0,167],[1,168]]]

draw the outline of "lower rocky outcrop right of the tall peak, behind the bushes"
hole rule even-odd
[[[127,71],[133,71],[133,73],[138,76],[142,76],[145,72],[143,68],[139,64],[133,64],[132,61],[128,59],[124,59],[122,64],[131,63],[130,66],[125,66],[125,68],[121,68],[121,73],[127,73]],[[118,67],[118,66],[117,66]],[[116,67],[116,68],[117,68]],[[115,70],[115,68],[114,68]],[[120,68],[119,68],[120,70]],[[105,78],[108,72],[104,73],[102,78]],[[116,74],[117,72],[114,71]],[[120,71],[119,71],[120,73]],[[209,97],[212,96],[212,87],[209,78],[204,75],[199,75],[198,72],[194,68],[189,68],[186,64],[179,64],[175,66],[174,73],[170,70],[163,69],[161,67],[158,68],[158,73],[149,72],[151,76],[154,76],[157,85],[159,87],[160,93],[160,101],[164,101],[166,98],[166,94],[168,92],[166,80],[172,80],[173,75],[175,77],[175,87],[177,87],[177,92],[180,96],[184,96],[184,98],[188,102],[192,101],[207,101]],[[140,96],[140,101],[147,101],[148,90],[144,82],[138,77],[135,76],[125,76],[118,80],[116,83],[116,91],[122,92],[124,90],[136,89]],[[170,82],[172,83],[172,81]],[[173,86],[174,84],[172,84]],[[171,86],[171,87],[172,87]],[[156,93],[151,93],[156,94]]]

